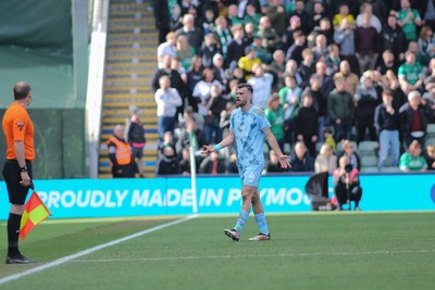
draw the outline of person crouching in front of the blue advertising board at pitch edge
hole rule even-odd
[[[360,187],[359,171],[350,166],[349,157],[339,159],[339,167],[333,174],[334,192],[337,198],[337,210],[341,211],[343,205],[350,201],[355,202],[355,211],[360,211],[359,203],[362,197]]]

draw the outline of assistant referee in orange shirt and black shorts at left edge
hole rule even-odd
[[[3,177],[11,211],[8,218],[7,264],[29,264],[35,261],[18,251],[18,236],[24,203],[32,182],[32,161],[35,159],[34,125],[27,114],[32,101],[30,86],[18,81],[13,88],[14,101],[4,113],[2,127],[7,142]]]

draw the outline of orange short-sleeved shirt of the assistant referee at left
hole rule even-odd
[[[11,103],[4,113],[2,127],[7,140],[7,159],[16,160],[14,141],[23,141],[24,157],[33,161],[35,159],[35,128],[27,110],[17,102]]]

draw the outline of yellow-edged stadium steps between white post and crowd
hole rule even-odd
[[[157,105],[150,78],[157,70],[158,33],[150,0],[111,0],[104,67],[104,97],[99,152],[100,178],[111,178],[107,140],[116,124],[126,124],[128,106],[140,110],[147,144],[144,149],[146,177],[153,177],[157,162]]]

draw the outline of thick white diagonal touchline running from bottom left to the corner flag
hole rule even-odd
[[[170,226],[174,226],[174,225],[178,225],[181,223],[187,222],[187,220],[189,220],[189,219],[191,219],[194,217],[197,217],[197,216],[198,215],[189,215],[189,216],[187,216],[185,218],[177,219],[177,220],[174,220],[174,222],[171,222],[171,223],[167,223],[167,224],[163,224],[163,225],[160,225],[160,226],[157,226],[157,227],[153,227],[153,228],[149,228],[149,229],[146,229],[146,230],[129,235],[127,237],[124,237],[124,238],[121,238],[121,239],[117,239],[117,240],[114,240],[114,241],[111,241],[111,242],[107,242],[107,243],[103,243],[103,244],[100,244],[100,245],[96,245],[94,248],[80,251],[78,253],[75,253],[75,254],[72,254],[72,255],[69,255],[69,256],[64,256],[64,257],[58,259],[58,260],[55,260],[53,262],[37,266],[35,268],[32,268],[32,269],[28,269],[28,270],[25,270],[25,272],[22,272],[22,273],[18,273],[18,274],[14,274],[14,275],[11,275],[11,276],[7,276],[7,277],[3,277],[3,278],[0,278],[0,285],[9,282],[9,281],[12,281],[12,280],[20,279],[20,278],[22,278],[24,276],[27,276],[27,275],[30,275],[30,274],[34,274],[34,273],[38,273],[38,272],[41,272],[41,270],[45,270],[45,269],[48,269],[48,268],[51,268],[51,267],[54,267],[54,266],[62,265],[62,264],[64,264],[66,262],[70,262],[70,261],[72,261],[74,259],[77,259],[77,257],[80,257],[80,256],[97,252],[97,251],[99,251],[101,249],[104,249],[104,248],[108,248],[108,247],[111,247],[111,245],[115,245],[115,244],[122,243],[124,241],[128,241],[128,240],[138,238],[140,236],[153,232],[156,230],[163,229],[163,228],[166,228],[166,227],[170,227]]]

